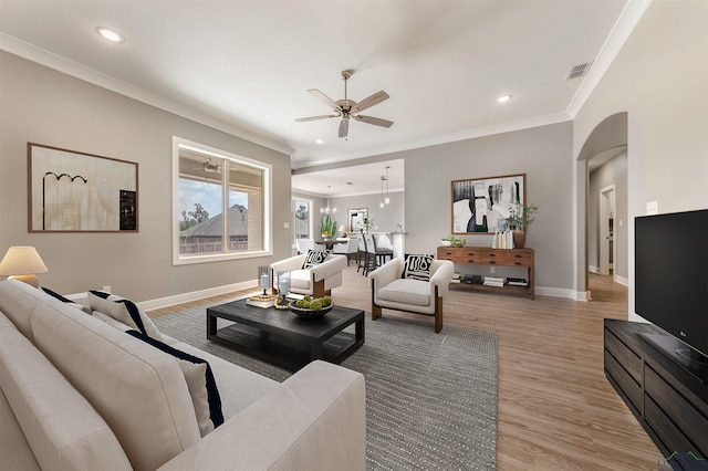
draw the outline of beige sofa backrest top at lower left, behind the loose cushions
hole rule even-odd
[[[0,328],[0,385],[42,469],[132,469],[104,419],[18,329]]]

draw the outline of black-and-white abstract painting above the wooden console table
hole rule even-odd
[[[493,233],[508,228],[509,208],[525,201],[525,174],[454,180],[452,233]]]

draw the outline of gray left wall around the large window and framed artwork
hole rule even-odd
[[[290,158],[0,51],[0,257],[34,245],[40,282],[62,293],[111,285],[136,301],[256,279],[290,254]],[[273,166],[273,257],[171,264],[173,135]],[[138,163],[138,233],[29,233],[28,142]]]

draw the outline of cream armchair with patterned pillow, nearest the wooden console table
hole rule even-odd
[[[442,301],[454,272],[455,264],[451,261],[431,257],[415,264],[406,264],[402,258],[383,264],[368,274],[372,320],[382,316],[382,307],[431,315],[435,317],[435,332],[439,333],[442,328]],[[425,279],[426,274],[429,280]]]

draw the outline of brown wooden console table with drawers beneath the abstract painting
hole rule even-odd
[[[460,286],[490,290],[523,290],[532,300],[533,294],[533,249],[491,249],[488,247],[438,247],[437,258],[450,260],[452,263],[466,263],[488,266],[519,266],[527,269],[527,286],[485,286],[480,284],[460,283]]]

